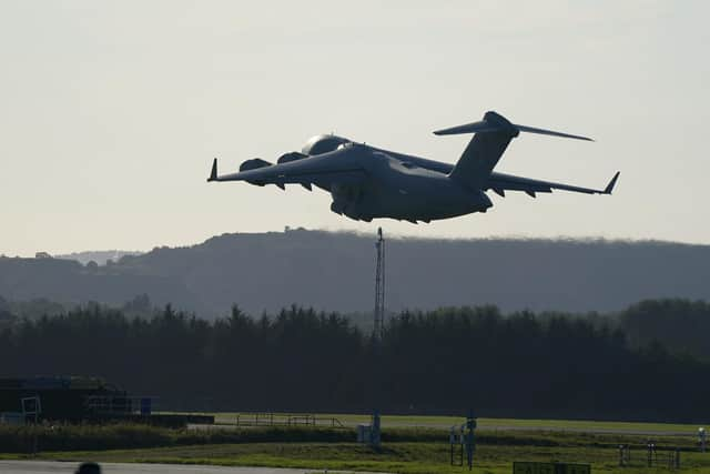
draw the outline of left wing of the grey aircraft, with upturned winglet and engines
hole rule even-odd
[[[338,152],[277,164],[258,159],[251,162],[257,163],[245,167],[250,163],[245,162],[240,172],[220,175],[215,158],[207,181],[246,181],[257,185],[276,184],[282,189],[284,184],[302,184],[310,189],[311,184],[323,188],[329,188],[333,183],[355,184],[366,178],[362,167],[347,157],[338,157]]]

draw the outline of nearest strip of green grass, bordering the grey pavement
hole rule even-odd
[[[642,453],[637,466],[617,467],[616,448],[585,446],[508,446],[479,445],[476,452],[476,473],[510,473],[511,462],[560,461],[588,462],[598,473],[653,473],[667,468],[648,470]],[[446,443],[389,443],[377,452],[355,443],[251,443],[123,450],[105,452],[43,453],[40,458],[98,462],[148,462],[176,464],[216,464],[225,466],[298,467],[307,470],[377,471],[404,474],[460,473],[462,467],[449,466]],[[683,453],[683,473],[710,470],[710,455]],[[17,457],[16,457],[17,458]]]

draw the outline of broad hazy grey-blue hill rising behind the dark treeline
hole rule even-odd
[[[617,311],[645,299],[710,300],[710,246],[604,240],[387,240],[388,310],[491,303],[504,311]],[[0,259],[0,295],[27,301],[154,304],[201,315],[258,315],[292,303],[371,311],[374,236],[291,230],[224,234],[98,268]]]

